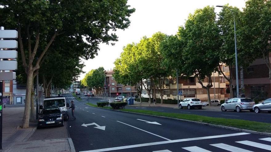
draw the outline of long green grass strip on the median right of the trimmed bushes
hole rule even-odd
[[[164,117],[169,117],[169,118],[191,120],[191,121],[196,121],[200,123],[209,123],[209,124],[214,124],[214,125],[234,127],[234,128],[251,130],[251,131],[271,133],[271,123],[261,123],[261,122],[241,120],[241,119],[213,118],[213,117],[192,115],[192,114],[165,113],[165,112],[148,111],[148,110],[135,110],[135,109],[120,109],[120,110],[148,114],[148,115],[164,116]]]

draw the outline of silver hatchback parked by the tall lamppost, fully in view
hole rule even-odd
[[[229,99],[226,103],[221,104],[221,111],[234,110],[241,112],[242,110],[249,110],[253,112],[252,107],[254,101],[250,98],[232,98]]]

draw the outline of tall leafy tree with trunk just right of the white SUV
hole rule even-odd
[[[179,28],[178,35],[184,44],[181,71],[185,76],[196,76],[202,88],[207,90],[211,105],[211,75],[219,65],[218,52],[221,46],[214,7],[206,6],[189,14],[185,27]],[[203,80],[206,77],[207,84],[204,86]]]

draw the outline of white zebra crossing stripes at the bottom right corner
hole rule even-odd
[[[262,141],[268,141],[271,144],[271,138],[260,138],[259,140]],[[244,141],[237,141],[236,143],[242,144],[242,145],[246,145],[248,147],[254,147],[254,148],[259,148],[259,150],[269,150],[271,151],[271,146],[267,145],[267,144],[262,144],[259,142],[252,142],[252,141],[248,141],[248,140],[244,140]],[[216,148],[220,148],[222,150],[227,150],[227,151],[231,151],[231,152],[258,152],[258,151],[251,151],[251,150],[247,150],[247,149],[243,149],[237,146],[231,146],[228,144],[224,144],[224,143],[215,143],[215,144],[209,144],[210,146],[216,147]],[[182,149],[190,151],[190,152],[213,152],[210,150],[206,150],[204,148],[198,147],[198,146],[190,146],[190,147],[182,147]],[[158,151],[152,151],[152,152],[172,152],[170,150],[158,150]]]

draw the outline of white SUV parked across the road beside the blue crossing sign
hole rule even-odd
[[[182,102],[179,104],[180,109],[183,107],[187,107],[187,109],[192,109],[194,107],[201,109],[202,108],[202,103],[200,99],[197,98],[184,98]]]

